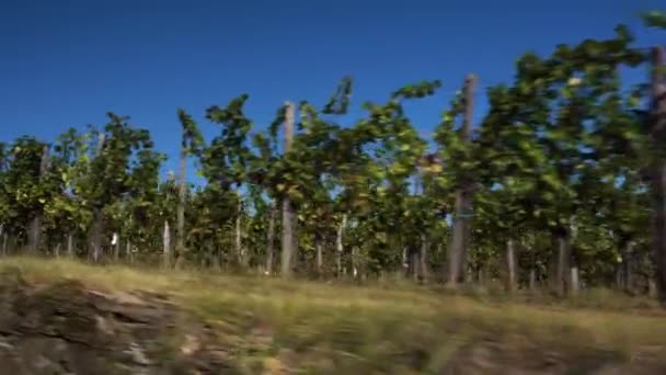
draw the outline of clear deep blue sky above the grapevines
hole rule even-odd
[[[441,79],[437,96],[409,107],[429,135],[468,72],[481,88],[508,82],[528,49],[611,36],[619,22],[641,45],[666,42],[636,18],[662,1],[0,0],[0,140],[50,141],[113,111],[149,128],[174,169],[176,107],[210,139],[211,104],[248,92],[263,127],[285,100],[323,104],[344,75],[356,80],[357,107]]]

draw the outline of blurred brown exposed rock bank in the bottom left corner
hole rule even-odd
[[[186,327],[187,329],[184,329]],[[3,374],[233,374],[203,326],[164,298],[0,274]]]

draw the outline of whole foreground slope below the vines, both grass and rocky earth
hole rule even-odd
[[[0,363],[13,375],[665,374],[664,338],[661,312],[0,261]]]

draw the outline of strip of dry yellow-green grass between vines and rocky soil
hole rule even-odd
[[[606,309],[553,308],[416,292],[413,286],[336,286],[65,260],[0,261],[0,270],[8,266],[20,268],[33,283],[76,279],[103,291],[165,293],[216,327],[239,361],[264,367],[298,362],[302,368],[335,367],[337,373],[407,374],[407,367],[436,373],[457,349],[480,339],[505,348],[529,343],[576,353],[608,351],[624,360],[663,354],[666,342],[666,318],[658,309],[636,309],[613,295],[596,302]]]

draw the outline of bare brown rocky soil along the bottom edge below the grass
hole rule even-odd
[[[244,339],[272,345],[271,338],[253,336],[249,330]],[[280,348],[248,366],[234,354],[237,341],[226,340],[164,295],[102,293],[76,281],[28,285],[19,270],[0,273],[1,374],[292,374],[305,368],[343,374],[348,368],[334,355],[307,348]],[[457,348],[446,364],[435,367],[434,354],[422,350],[397,356],[395,366],[367,368],[392,374],[666,374],[665,361],[648,352],[620,360],[613,353],[484,339]]]

